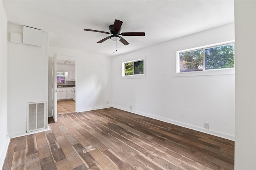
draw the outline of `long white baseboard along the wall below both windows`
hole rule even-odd
[[[173,121],[173,120],[170,120],[170,119],[165,119],[163,117],[158,117],[158,116],[155,116],[155,115],[150,115],[150,114],[143,113],[143,112],[140,112],[140,111],[126,109],[124,107],[119,107],[119,106],[112,106],[112,107],[114,107],[116,109],[128,111],[130,113],[134,113],[134,114],[150,117],[152,119],[156,119],[156,120],[164,121],[164,122],[167,122],[167,123],[171,123],[171,124],[174,124],[174,125],[186,127],[188,129],[193,129],[193,130],[200,131],[200,132],[203,132],[203,133],[207,133],[207,134],[210,134],[210,135],[214,135],[214,136],[217,136],[217,137],[222,137],[224,139],[229,139],[231,141],[235,141],[235,137],[234,136],[227,135],[227,134],[224,134],[224,133],[220,133],[220,132],[216,132],[216,131],[211,131],[211,130],[208,130],[208,129],[204,129],[204,128],[201,128],[201,127],[196,127],[196,126],[193,126],[193,125],[188,125],[186,123],[181,123],[181,122]]]

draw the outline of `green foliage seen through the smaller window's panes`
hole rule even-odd
[[[124,76],[143,74],[143,60],[124,63]]]

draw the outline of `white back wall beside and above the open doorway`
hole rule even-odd
[[[76,111],[88,111],[112,105],[111,58],[49,47],[49,54],[57,58],[76,60]],[[109,101],[109,104],[106,102]]]

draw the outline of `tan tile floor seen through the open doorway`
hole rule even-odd
[[[57,101],[57,115],[64,113],[76,112],[76,101],[74,100],[58,100]]]

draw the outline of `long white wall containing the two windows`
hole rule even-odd
[[[234,23],[113,57],[113,106],[234,140],[235,75],[173,76],[177,50],[230,40]],[[146,78],[121,79],[121,63],[141,56]]]

